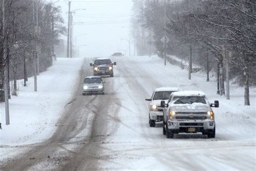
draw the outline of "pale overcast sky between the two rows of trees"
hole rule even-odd
[[[68,0],[51,1],[61,6],[65,26],[68,24]],[[107,57],[113,52],[123,52],[129,55],[129,43],[132,19],[131,0],[73,0],[71,11],[73,14],[73,37],[79,46],[80,54],[84,56]],[[77,10],[86,9],[86,10]],[[87,34],[87,35],[83,35]],[[79,36],[83,35],[83,36]],[[66,37],[63,37],[66,42]],[[131,39],[131,53],[133,54],[133,39]],[[83,46],[86,45],[86,46]]]

